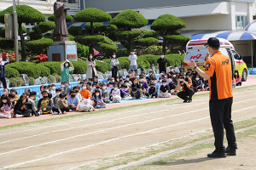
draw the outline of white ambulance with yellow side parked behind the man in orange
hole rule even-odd
[[[204,68],[205,56],[208,53],[208,49],[206,48],[206,46],[204,46],[204,44],[207,43],[207,40],[208,39],[190,40],[187,43],[186,55],[184,57],[184,61],[185,59],[188,59],[189,61],[191,61],[191,59],[194,59],[196,64],[203,71],[205,70]],[[231,42],[223,38],[218,38],[218,40],[220,44],[219,51],[222,54],[230,57],[233,73],[235,70],[237,70],[241,75],[241,81],[246,82],[247,81],[247,65],[242,60],[243,57],[236,53],[235,48]],[[189,65],[187,65],[184,61],[183,61],[183,68],[184,68],[184,71],[187,71],[191,67],[189,67]]]

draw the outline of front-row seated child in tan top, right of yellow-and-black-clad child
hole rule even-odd
[[[67,96],[67,94],[65,93],[61,93],[59,94],[59,100],[56,103],[56,107],[53,108],[54,114],[57,115],[61,115],[61,114],[66,114],[67,111],[69,111],[69,108],[67,107],[67,99],[65,99]]]

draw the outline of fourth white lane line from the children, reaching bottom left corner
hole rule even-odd
[[[243,108],[243,109],[237,110],[237,111],[244,111],[244,110],[251,109],[251,108],[254,108],[254,107],[256,107],[256,105],[255,105],[255,106],[252,106],[252,107]],[[237,112],[237,111],[232,111],[232,112]],[[153,132],[153,131],[156,131],[156,130],[160,130],[160,129],[163,129],[163,128],[174,127],[174,126],[178,126],[178,125],[182,125],[182,124],[186,124],[186,123],[190,123],[190,122],[198,122],[198,121],[201,121],[201,120],[205,120],[205,119],[207,119],[207,118],[209,118],[209,116],[204,117],[204,118],[200,118],[200,119],[196,119],[196,120],[192,120],[192,121],[189,121],[189,122],[180,122],[180,123],[173,124],[173,125],[169,125],[169,126],[166,126],[166,127],[158,127],[158,128],[154,128],[154,129],[151,129],[151,130],[148,130],[148,131],[141,132],[141,133],[133,133],[133,134],[125,135],[125,136],[122,136],[122,137],[118,137],[118,138],[114,138],[114,139],[105,140],[105,141],[100,142],[100,143],[90,144],[90,145],[87,145],[87,146],[84,146],[84,147],[81,147],[81,148],[76,148],[76,149],[73,149],[73,150],[62,151],[62,152],[56,153],[56,154],[54,154],[54,155],[45,156],[45,157],[43,157],[43,158],[39,158],[39,159],[31,160],[31,161],[20,162],[20,163],[15,164],[15,165],[10,165],[10,166],[8,166],[8,167],[3,167],[3,169],[9,168],[9,167],[20,166],[20,165],[23,165],[23,164],[26,164],[26,163],[31,163],[31,162],[33,162],[33,161],[42,161],[42,160],[48,159],[48,158],[53,157],[53,156],[59,156],[59,155],[66,154],[66,153],[69,153],[69,152],[73,152],[73,151],[76,151],[76,150],[84,150],[84,149],[86,149],[86,148],[90,148],[90,147],[92,147],[92,146],[96,146],[96,145],[99,145],[99,144],[106,144],[106,143],[112,142],[112,141],[114,141],[114,140],[125,139],[125,138],[131,137],[131,136],[136,136],[136,135],[144,134],[144,133],[150,133],[150,132]]]

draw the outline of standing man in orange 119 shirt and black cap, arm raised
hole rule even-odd
[[[207,59],[206,71],[201,71],[195,64],[186,60],[185,62],[195,69],[201,77],[209,80],[210,87],[210,116],[212,130],[215,138],[215,150],[208,157],[236,156],[236,136],[231,120],[231,108],[233,103],[232,93],[232,69],[230,58],[219,51],[219,41],[216,37],[210,37],[205,44],[211,58]],[[228,147],[223,145],[224,128],[228,140]]]

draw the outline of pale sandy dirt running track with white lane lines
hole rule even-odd
[[[255,86],[234,91],[232,108],[234,122],[241,122],[255,116],[255,92]],[[138,105],[122,110],[4,128],[0,131],[0,168],[97,169],[105,167],[102,163],[104,160],[115,161],[110,159],[111,157],[133,150],[143,150],[150,145],[182,139],[211,129],[208,110],[206,94],[195,96],[193,102],[187,104],[177,99],[160,104]],[[252,144],[248,145],[253,147],[253,139],[250,141]],[[247,144],[247,141],[245,142]],[[251,158],[255,160],[256,150],[247,155],[243,150],[246,144],[241,144],[241,152],[236,157],[243,159],[243,162]],[[197,167],[213,169],[217,161],[204,161],[206,153],[211,151],[212,148],[202,150],[195,157],[186,158],[192,160],[188,161],[190,163],[177,163],[175,168],[191,169],[190,167],[194,166],[195,168],[192,169],[198,169]],[[231,157],[225,160],[229,159],[231,160]],[[238,162],[236,161],[236,164]],[[230,164],[223,164],[224,167],[218,168],[231,169]],[[242,164],[247,165],[247,163]],[[237,168],[240,169],[240,167]]]

